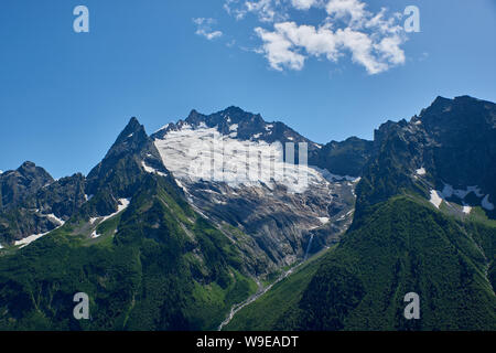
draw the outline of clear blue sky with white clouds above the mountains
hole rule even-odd
[[[55,178],[87,173],[131,116],[153,132],[193,108],[236,105],[327,142],[371,139],[438,95],[496,100],[495,1],[1,1],[0,170],[31,160]],[[89,33],[73,30],[78,4]],[[365,11],[358,21],[387,8],[386,36],[399,42],[364,60],[360,43],[334,34],[384,33],[354,24],[347,6]],[[395,30],[407,6],[419,33]]]

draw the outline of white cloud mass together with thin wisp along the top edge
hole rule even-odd
[[[401,45],[407,38],[399,25],[400,13],[374,13],[360,0],[226,0],[225,8],[238,20],[257,15],[255,28],[262,41],[260,52],[277,71],[302,69],[310,57],[325,57],[337,63],[351,60],[374,75],[406,62]],[[316,8],[325,14],[320,24],[296,23],[291,11]]]

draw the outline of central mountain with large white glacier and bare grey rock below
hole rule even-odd
[[[228,224],[249,235],[255,242],[247,246],[265,254],[271,267],[293,264],[308,252],[314,253],[337,242],[352,222],[356,182],[349,179],[310,168],[309,186],[300,190],[294,188],[298,182],[292,179],[260,178],[239,182],[233,176],[233,173],[240,173],[239,168],[245,164],[249,168],[255,164],[258,170],[270,168],[262,157],[259,160],[245,158],[249,149],[263,154],[269,153],[273,142],[281,146],[294,142],[298,157],[298,143],[306,142],[310,153],[320,150],[317,143],[282,122],[266,122],[260,115],[235,107],[209,116],[193,110],[187,119],[170,124],[152,138],[163,163],[194,208],[219,227]],[[223,153],[223,148],[235,152],[228,156]],[[203,152],[214,159],[224,159],[224,165],[216,165],[215,173],[223,174],[226,180],[209,175],[197,178],[194,172],[188,172],[195,164],[211,164],[209,159],[198,156]],[[283,168],[292,169],[285,152]],[[298,158],[295,163],[299,163]]]

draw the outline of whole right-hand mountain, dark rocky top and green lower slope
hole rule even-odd
[[[440,97],[409,122],[388,121],[337,248],[228,329],[495,330],[495,186],[493,103]],[[403,315],[408,292],[419,295],[419,320]],[[277,304],[287,296],[292,304]],[[270,304],[279,312],[262,313]]]

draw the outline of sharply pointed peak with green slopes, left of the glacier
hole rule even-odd
[[[1,329],[214,329],[255,290],[246,255],[192,210],[157,156],[132,119],[86,179],[89,201],[29,246],[7,248]],[[143,161],[161,174],[142,172]],[[119,200],[131,201],[116,213]],[[90,320],[74,319],[76,292],[89,296]]]

